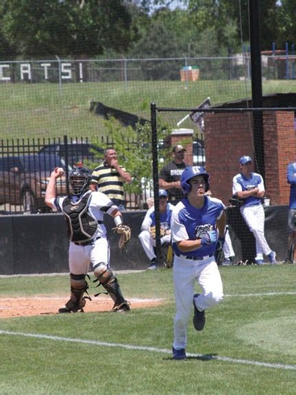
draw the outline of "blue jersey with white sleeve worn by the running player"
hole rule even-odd
[[[201,246],[197,250],[182,252],[177,247],[177,241],[202,239],[209,230],[216,230],[216,221],[223,213],[224,205],[215,197],[205,196],[204,206],[195,208],[185,198],[175,206],[171,217],[171,232],[175,254],[201,256],[214,254],[216,244]]]

